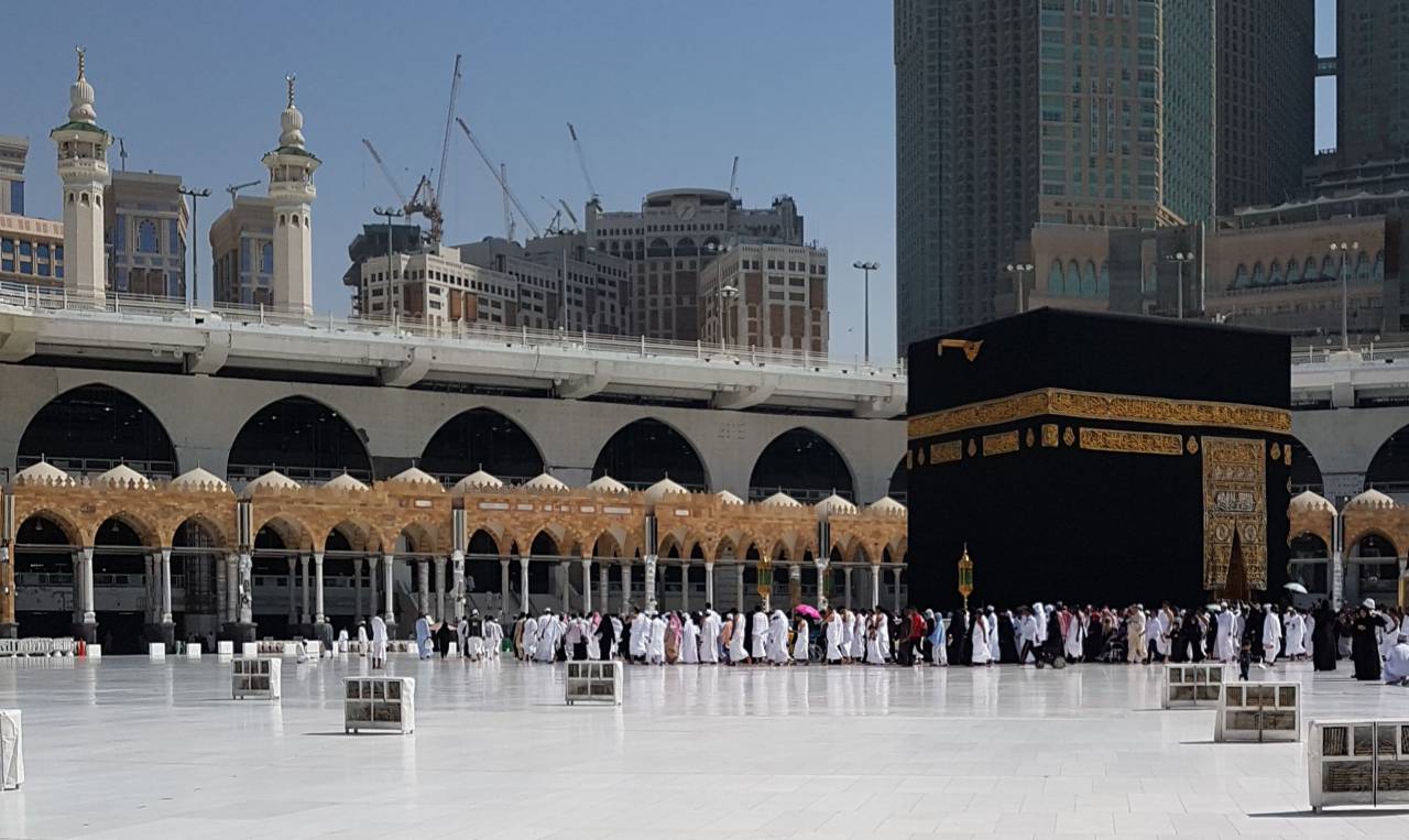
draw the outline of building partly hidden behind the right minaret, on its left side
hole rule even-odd
[[[273,306],[273,202],[240,196],[210,226],[216,303]]]

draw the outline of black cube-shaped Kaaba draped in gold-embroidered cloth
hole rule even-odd
[[[909,348],[910,602],[1278,600],[1291,340],[1040,309]]]

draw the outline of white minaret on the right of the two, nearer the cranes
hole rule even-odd
[[[303,114],[293,107],[293,76],[289,107],[279,116],[279,148],[263,156],[269,169],[269,197],[273,199],[273,307],[279,311],[313,313],[313,230],[311,206],[317,158],[303,144]]]

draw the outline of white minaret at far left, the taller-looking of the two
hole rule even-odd
[[[82,47],[77,54],[79,78],[69,86],[69,121],[49,132],[59,151],[63,182],[63,288],[75,297],[103,300],[107,295],[103,187],[113,180],[107,168],[113,137],[97,127]]]

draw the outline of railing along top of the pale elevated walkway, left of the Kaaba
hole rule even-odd
[[[865,362],[859,357],[843,358],[814,354],[806,350],[775,350],[726,345],[704,341],[665,341],[630,335],[603,335],[568,330],[537,330],[503,327],[489,323],[424,320],[393,314],[390,319],[368,316],[303,314],[268,309],[265,306],[218,303],[194,307],[179,297],[108,293],[103,299],[69,295],[66,289],[30,283],[0,283],[0,306],[25,309],[35,313],[106,314],[117,317],[156,317],[166,321],[244,327],[293,327],[325,333],[358,335],[392,335],[449,342],[495,342],[504,347],[558,348],[573,352],[610,352],[641,358],[676,358],[704,362],[728,362],[751,366],[782,366],[830,373],[865,373],[871,376],[905,376],[905,359],[892,364]]]

